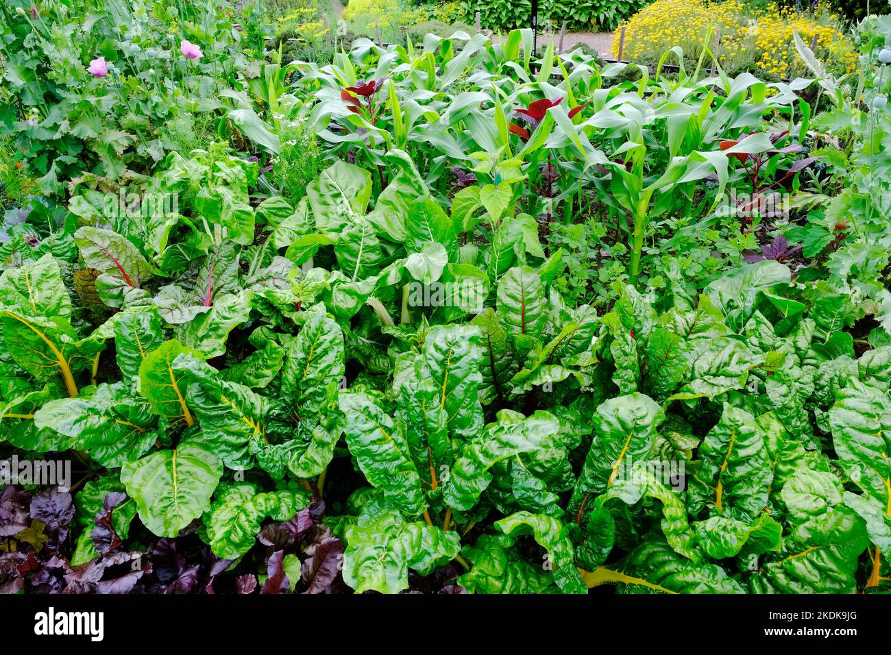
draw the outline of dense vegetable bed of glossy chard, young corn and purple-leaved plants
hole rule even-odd
[[[854,90],[177,45],[214,143],[7,217],[2,452],[71,479],[4,480],[0,589],[887,591],[886,28]]]

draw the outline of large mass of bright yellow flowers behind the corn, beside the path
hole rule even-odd
[[[833,73],[850,72],[857,61],[854,42],[842,31],[837,16],[776,5],[752,10],[740,0],[657,0],[625,22],[622,58],[658,61],[675,45],[683,48],[685,56],[695,58],[703,45],[714,46],[718,29],[718,61],[724,70],[760,71],[779,78],[804,74],[805,63],[795,48],[794,32],[807,45],[813,45],[816,37],[814,53]],[[613,43],[615,54],[619,33],[617,30]]]

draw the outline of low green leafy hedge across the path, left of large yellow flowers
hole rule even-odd
[[[650,0],[542,0],[538,3],[538,23],[560,27],[567,21],[570,30],[611,30],[650,3]],[[467,20],[481,13],[482,26],[494,31],[531,26],[530,0],[464,0]]]

